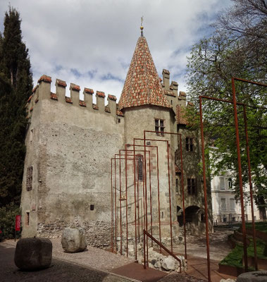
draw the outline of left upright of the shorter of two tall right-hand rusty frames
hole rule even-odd
[[[204,153],[204,130],[202,121],[202,101],[199,97],[199,114],[200,114],[200,130],[201,130],[201,152],[202,152],[202,167],[203,167],[203,181],[204,181],[204,201],[205,201],[205,221],[206,221],[206,259],[208,266],[208,279],[211,282],[211,262],[209,258],[209,219],[208,219],[208,204],[206,196],[206,166]]]

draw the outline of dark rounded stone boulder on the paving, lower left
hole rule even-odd
[[[46,238],[23,238],[15,247],[15,265],[21,270],[49,267],[52,260],[52,243]]]

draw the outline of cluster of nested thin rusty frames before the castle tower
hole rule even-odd
[[[171,200],[171,187],[170,187],[170,154],[169,154],[169,142],[170,140],[162,139],[149,139],[146,137],[146,133],[159,133],[156,131],[151,130],[144,130],[144,138],[134,138],[133,144],[126,144],[125,149],[120,149],[119,154],[115,154],[115,156],[111,159],[111,250],[117,251],[117,226],[120,226],[120,254],[123,253],[123,224],[122,224],[122,200],[125,200],[125,207],[126,207],[126,216],[125,216],[125,229],[126,229],[126,255],[128,256],[128,161],[133,162],[133,179],[134,179],[134,198],[135,198],[135,259],[137,259],[137,240],[140,241],[140,232],[139,232],[139,226],[140,226],[140,219],[142,218],[141,226],[142,226],[142,233],[143,235],[143,227],[144,231],[148,231],[149,226],[149,220],[148,220],[148,207],[147,202],[150,203],[150,225],[151,225],[151,236],[153,235],[153,216],[152,216],[152,200],[151,200],[151,157],[150,157],[150,150],[156,149],[156,178],[157,178],[157,200],[158,200],[158,213],[159,213],[159,246],[161,251],[161,214],[160,214],[160,192],[159,192],[159,147],[158,146],[152,146],[147,145],[147,141],[153,141],[153,142],[166,142],[166,149],[167,149],[167,160],[168,160],[168,196],[169,196],[169,205],[170,205],[170,245],[171,245],[171,252],[173,252],[173,222],[172,222],[172,200]],[[166,133],[164,132],[164,135],[170,134],[170,135],[180,135],[180,133]],[[144,145],[138,145],[136,144],[137,141],[144,142]],[[132,149],[129,149],[129,147],[132,147]],[[137,149],[139,147],[142,147],[143,149]],[[124,154],[122,154],[122,152]],[[131,152],[131,154],[129,154]],[[141,152],[142,160],[143,160],[143,214],[140,217],[139,216],[139,204],[137,206],[137,202],[139,203],[139,181],[138,177],[136,178],[136,160],[137,157],[140,155],[137,154]],[[148,159],[147,159],[148,154]],[[182,207],[183,207],[183,224],[184,224],[184,240],[185,240],[185,258],[187,258],[187,248],[186,248],[186,231],[185,231],[185,194],[184,194],[184,180],[183,180],[183,168],[182,168],[182,137],[180,135],[180,159],[181,159],[181,178],[182,178]],[[125,177],[125,199],[122,199],[122,171],[121,171],[121,161],[125,161],[125,171],[124,171],[124,177]],[[117,161],[119,161],[119,164],[117,164]],[[148,171],[147,171],[147,164],[148,164]],[[118,173],[117,173],[117,167],[118,167]],[[118,174],[118,176],[117,176]],[[117,177],[119,178],[117,180]],[[113,178],[114,179],[114,185],[113,185]],[[137,181],[136,181],[137,179]],[[149,181],[147,181],[147,179]],[[118,182],[118,187],[117,187]],[[117,216],[117,191],[119,191],[119,216]],[[149,201],[148,201],[148,191],[149,191]],[[115,211],[115,212],[114,212]],[[115,217],[115,220],[114,220]],[[119,218],[117,223],[117,217]],[[114,222],[115,221],[115,222]],[[114,236],[114,228],[115,228],[115,236]],[[138,233],[138,234],[137,234]],[[150,234],[149,234],[150,235]],[[114,237],[116,240],[115,246],[114,246]],[[145,247],[147,249],[147,252],[144,250],[144,254],[147,254],[147,262],[148,262],[148,237],[145,243]],[[152,236],[153,238],[153,236]],[[153,246],[153,240],[151,240],[151,245]]]

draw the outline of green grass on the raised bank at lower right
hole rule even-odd
[[[264,250],[266,248],[266,244],[262,241],[257,239],[256,240],[256,251],[257,257],[261,259],[267,259],[267,254],[264,254]],[[247,247],[247,255],[248,257],[254,257],[254,246],[253,240],[251,240],[249,247]],[[223,265],[230,265],[236,267],[243,267],[242,266],[242,257],[243,257],[243,246],[236,245],[234,249],[220,262]],[[254,269],[249,269],[254,270]]]

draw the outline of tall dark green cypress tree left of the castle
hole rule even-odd
[[[32,91],[20,15],[9,7],[0,35],[0,205],[19,204],[25,158],[25,104]]]

